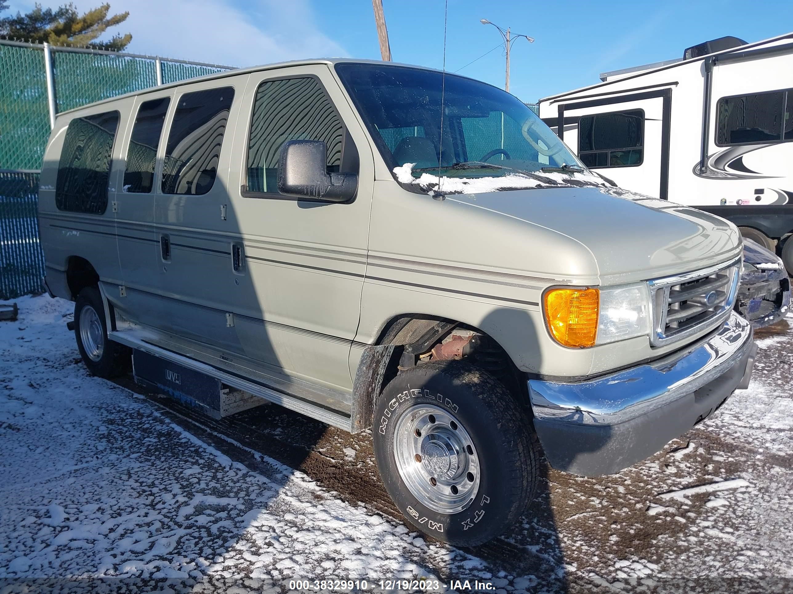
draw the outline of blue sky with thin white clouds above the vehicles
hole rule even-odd
[[[370,0],[109,0],[130,11],[119,30],[128,51],[251,66],[345,55],[379,59]],[[43,0],[44,6],[58,2]],[[100,0],[75,2],[79,9]],[[12,11],[33,2],[11,0]],[[394,61],[443,63],[442,0],[383,0]],[[684,48],[724,35],[757,41],[793,31],[793,2],[473,2],[449,0],[446,68],[504,86],[504,53],[486,18],[536,39],[517,40],[511,92],[523,101],[599,82],[598,74],[681,57]],[[464,67],[464,68],[463,68]]]

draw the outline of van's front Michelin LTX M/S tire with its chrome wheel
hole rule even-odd
[[[439,361],[403,371],[385,387],[374,453],[409,524],[474,546],[506,531],[534,497],[532,431],[496,378],[465,360]]]

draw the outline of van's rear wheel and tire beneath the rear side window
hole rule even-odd
[[[98,287],[85,287],[77,295],[75,338],[82,362],[92,375],[110,379],[129,370],[132,351],[107,337],[105,304]]]

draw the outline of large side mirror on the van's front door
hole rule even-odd
[[[278,192],[322,202],[347,202],[358,190],[354,173],[328,173],[328,147],[321,140],[289,140],[278,158]]]

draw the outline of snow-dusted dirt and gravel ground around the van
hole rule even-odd
[[[0,592],[288,592],[331,577],[793,591],[787,322],[757,334],[749,390],[714,418],[619,474],[547,470],[504,538],[459,550],[402,524],[370,436],[273,405],[213,421],[90,377],[65,327],[73,304],[18,303],[0,322]]]

